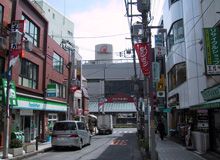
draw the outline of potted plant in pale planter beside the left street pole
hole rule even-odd
[[[23,154],[23,143],[19,139],[12,139],[9,145],[8,152],[15,156],[19,156]]]

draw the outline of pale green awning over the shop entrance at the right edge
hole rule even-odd
[[[220,108],[220,99],[200,103],[197,105],[193,105],[190,107],[191,110],[196,109],[213,109],[213,108]]]

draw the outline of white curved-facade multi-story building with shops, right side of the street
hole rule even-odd
[[[168,126],[184,139],[191,125],[199,152],[220,152],[219,9],[218,0],[166,0],[163,9]]]

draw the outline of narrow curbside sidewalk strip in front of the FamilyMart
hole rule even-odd
[[[38,144],[38,151],[30,152],[30,153],[24,153],[21,156],[13,157],[11,154],[8,154],[8,159],[13,159],[13,160],[20,160],[24,158],[28,158],[31,156],[34,156],[38,153],[46,152],[48,150],[51,150],[51,142],[45,142],[45,143],[39,143]],[[2,159],[2,151],[0,151],[0,159]]]

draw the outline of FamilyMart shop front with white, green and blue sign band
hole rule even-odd
[[[51,126],[48,126],[50,113],[57,115],[56,120],[59,115],[65,117],[67,106],[64,103],[23,96],[18,96],[17,100],[18,105],[12,108],[11,132],[22,132],[24,142],[35,141],[38,136],[46,138],[48,127]]]

